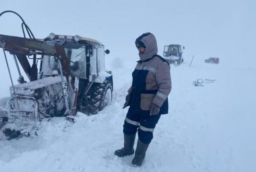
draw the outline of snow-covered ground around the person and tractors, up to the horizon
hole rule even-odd
[[[117,68],[119,63],[119,68]],[[119,158],[122,109],[135,59],[110,59],[113,102],[97,115],[44,121],[38,136],[0,141],[0,171],[254,171],[255,68],[192,63],[171,66],[169,114],[162,115],[142,167]],[[195,87],[202,78],[215,80]]]

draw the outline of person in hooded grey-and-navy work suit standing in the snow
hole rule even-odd
[[[169,63],[157,55],[157,42],[152,33],[139,36],[135,45],[139,51],[132,73],[132,86],[125,98],[124,108],[130,105],[123,125],[124,147],[114,152],[123,157],[134,153],[134,141],[138,130],[138,142],[132,164],[141,166],[154,128],[161,114],[168,113],[171,91]]]

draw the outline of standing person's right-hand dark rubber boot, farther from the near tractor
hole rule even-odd
[[[135,165],[135,166],[141,166],[142,165],[142,163],[144,161],[144,158],[145,158],[145,155],[146,155],[148,145],[149,144],[145,144],[145,143],[138,140],[137,148],[136,148],[136,151],[135,151],[135,156],[132,160],[133,165]]]

